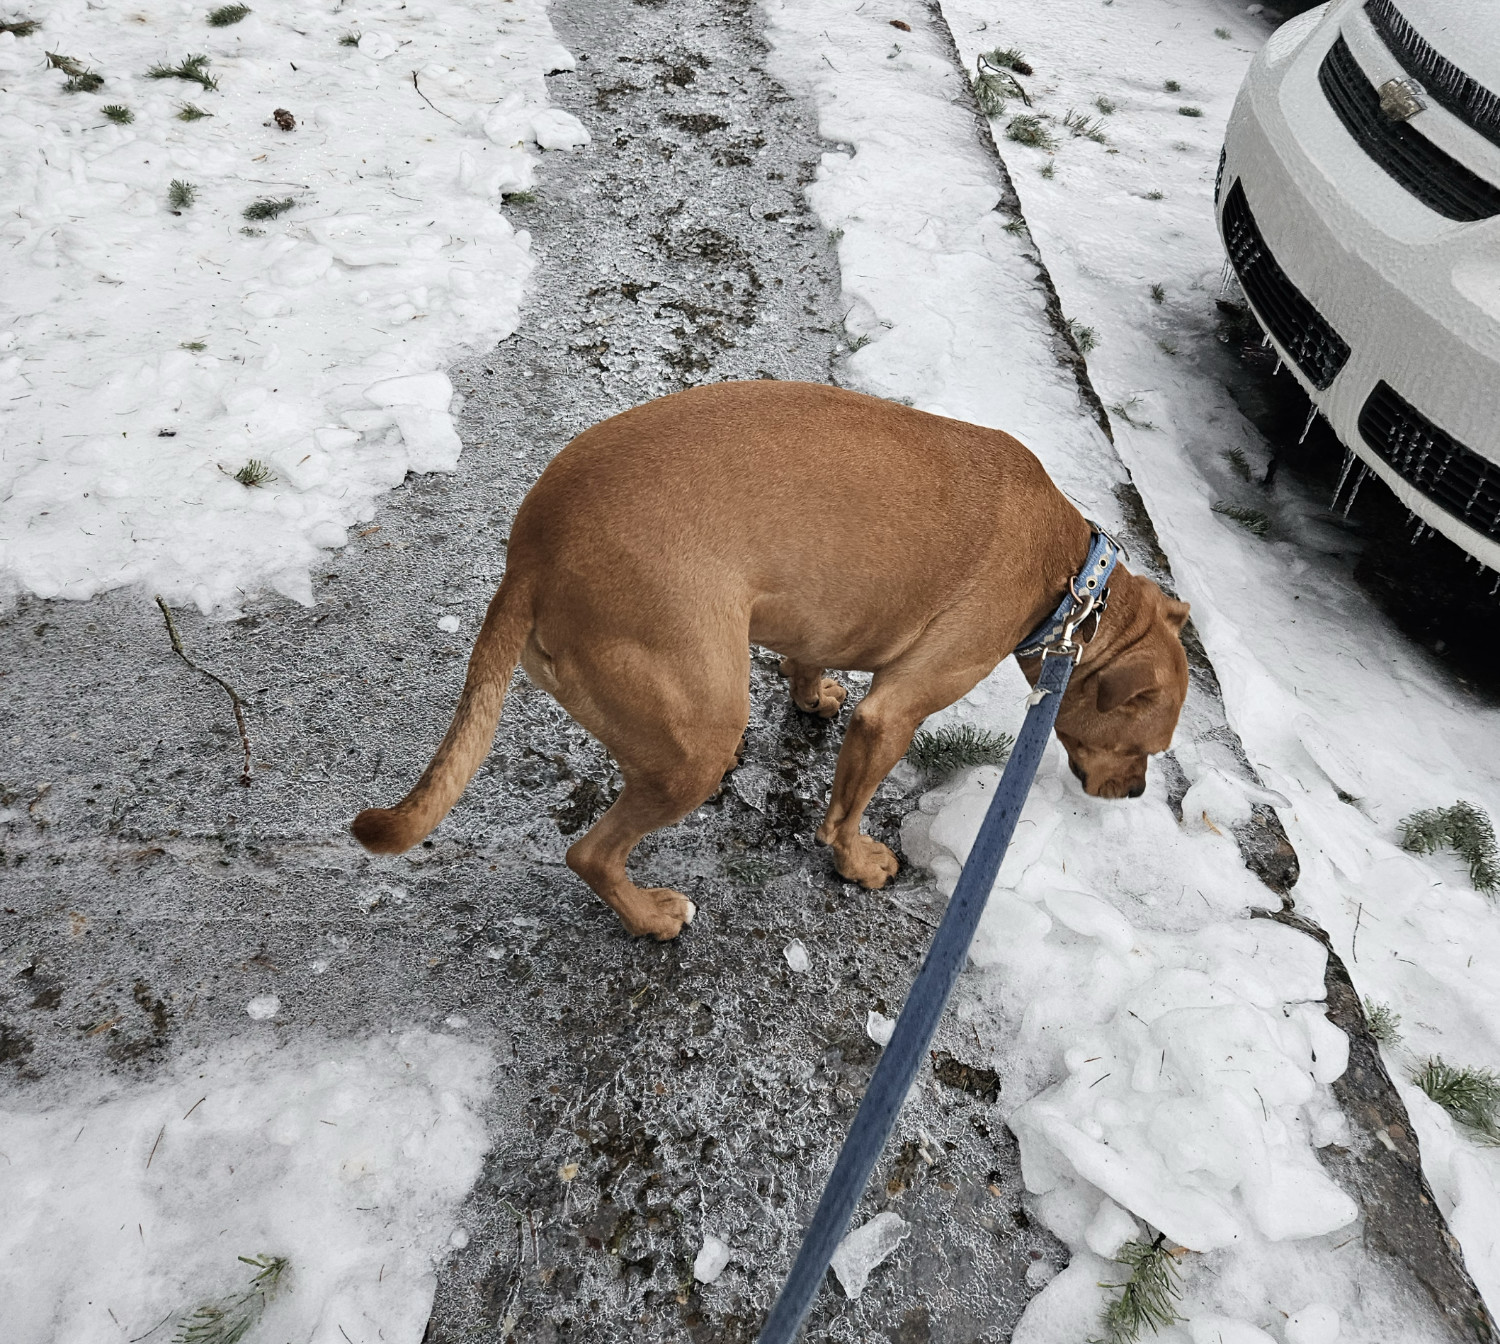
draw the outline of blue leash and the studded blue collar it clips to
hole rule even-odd
[[[1005,850],[1010,849],[1011,836],[1016,834],[1016,822],[1020,820],[1026,795],[1036,778],[1047,736],[1062,705],[1062,693],[1068,688],[1068,678],[1072,676],[1082,652],[1082,645],[1074,642],[1072,633],[1089,616],[1104,610],[1106,584],[1119,555],[1119,543],[1095,528],[1088,560],[1078,578],[1070,585],[1070,594],[1064,597],[1053,616],[1016,651],[1018,657],[1042,656],[1036,687],[1029,699],[1030,708],[1026,711],[1016,747],[1005,762],[1000,784],[994,790],[990,810],[984,814],[980,834],[958,876],[958,885],[948,902],[938,933],[933,934],[927,960],[916,972],[906,1004],[902,1005],[896,1034],[874,1066],[874,1076],[844,1137],[828,1185],[824,1186],[818,1210],[802,1234],[796,1262],[760,1328],[758,1344],[794,1344],[796,1340],[802,1317],[818,1296],[849,1218],[854,1216],[855,1206],[870,1182],[870,1173],[874,1172],[874,1164],[885,1150],[885,1142],[896,1128],[902,1102],[906,1101],[906,1094],[927,1056],[938,1023],[948,1006],[948,996],[969,957],[974,932],[980,927],[990,888],[994,886]]]

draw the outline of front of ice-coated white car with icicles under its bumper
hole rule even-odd
[[[1332,0],[1282,24],[1215,202],[1256,318],[1334,432],[1500,570],[1500,3]]]

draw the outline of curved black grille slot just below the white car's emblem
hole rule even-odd
[[[1470,172],[1408,122],[1392,122],[1380,111],[1380,93],[1342,38],[1329,48],[1317,78],[1359,147],[1424,206],[1466,224],[1500,214],[1500,188]]]

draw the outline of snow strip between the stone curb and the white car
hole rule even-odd
[[[1500,810],[1500,717],[1412,648],[1329,558],[1342,546],[1318,522],[1322,500],[1292,484],[1268,496],[1227,456],[1239,450],[1257,474],[1268,458],[1212,354],[1222,264],[1214,172],[1266,26],[1234,6],[1173,0],[1056,4],[1046,18],[1002,0],[945,0],[944,12],[970,69],[996,46],[1022,48],[1035,68],[1023,80],[1034,106],[1012,100],[993,120],[998,144],[1064,306],[1096,333],[1090,375],[1116,408],[1116,441],[1192,602],[1230,722],[1292,801],[1280,814],[1302,861],[1298,904],[1332,934],[1358,988],[1402,1018],[1406,1042],[1386,1048],[1388,1068],[1494,1305],[1500,1156],[1410,1074],[1434,1054],[1500,1064],[1500,914],[1454,858],[1395,842],[1418,808],[1466,798]],[[1270,44],[1288,48],[1316,18],[1290,21]],[[1102,140],[1071,134],[1070,111]],[[1004,138],[1023,112],[1042,118],[1056,152]],[[1275,508],[1272,540],[1215,514],[1218,502]]]

